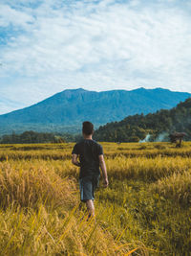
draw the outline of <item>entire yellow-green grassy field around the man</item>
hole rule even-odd
[[[0,255],[190,255],[191,143],[101,143],[110,185],[96,222],[74,144],[0,146]]]

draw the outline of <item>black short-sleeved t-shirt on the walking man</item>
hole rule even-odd
[[[103,154],[103,149],[95,140],[83,139],[74,145],[72,153],[79,155],[79,178],[100,175],[98,156]]]

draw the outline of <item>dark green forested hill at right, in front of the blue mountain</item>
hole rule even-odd
[[[172,109],[136,114],[99,127],[94,138],[98,141],[138,142],[146,137],[149,141],[161,141],[169,139],[169,134],[175,131],[185,132],[185,140],[191,140],[191,98]]]

